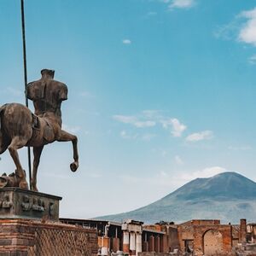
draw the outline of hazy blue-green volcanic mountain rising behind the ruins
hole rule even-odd
[[[195,218],[238,223],[240,218],[256,221],[256,183],[236,172],[196,178],[154,203],[131,212],[99,217],[112,221],[132,218],[153,224],[181,223]]]

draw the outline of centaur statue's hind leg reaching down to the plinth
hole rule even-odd
[[[15,166],[17,168],[16,174],[20,178],[19,187],[21,189],[28,189],[28,185],[26,182],[26,173],[24,172],[24,170],[22,169],[22,166],[20,165],[20,159],[19,159],[19,154],[18,154],[17,150],[19,148],[24,147],[26,145],[26,143],[27,143],[27,141],[22,137],[13,137],[13,139],[8,147],[9,154],[15,161]]]

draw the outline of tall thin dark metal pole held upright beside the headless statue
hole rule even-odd
[[[25,84],[25,97],[26,97],[26,107],[28,108],[27,99],[27,75],[26,75],[26,38],[25,38],[25,15],[24,15],[24,1],[20,0],[21,5],[21,26],[22,26],[22,43],[23,43],[23,66],[24,66],[24,84]],[[29,172],[29,187],[31,189],[31,150],[27,147],[27,157],[28,157],[28,172]]]

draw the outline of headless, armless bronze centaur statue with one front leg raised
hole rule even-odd
[[[15,173],[0,177],[0,187],[17,186],[28,189],[26,172],[23,170],[17,150],[33,148],[31,186],[37,188],[37,172],[44,145],[57,142],[73,143],[71,171],[79,167],[78,138],[61,130],[61,102],[67,100],[67,85],[54,80],[55,71],[43,69],[42,78],[27,85],[27,97],[32,100],[35,113],[19,103],[4,104],[0,108],[0,154],[8,148],[15,162]]]

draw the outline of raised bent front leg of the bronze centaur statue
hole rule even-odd
[[[79,168],[79,151],[78,151],[78,137],[67,131],[61,130],[61,137],[57,139],[58,142],[72,142],[73,143],[73,163],[70,164],[72,172],[76,172]]]

